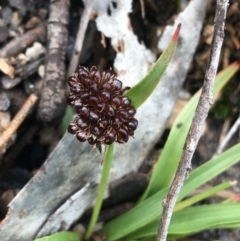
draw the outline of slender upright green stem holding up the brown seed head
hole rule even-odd
[[[88,226],[88,230],[85,235],[85,239],[89,239],[91,237],[91,235],[93,233],[93,229],[96,225],[96,222],[97,222],[97,219],[99,216],[99,212],[100,212],[102,202],[103,202],[104,192],[106,190],[107,183],[108,183],[110,168],[112,166],[113,149],[114,149],[113,144],[110,146],[106,146],[106,148],[105,148],[104,157],[103,157],[104,158],[103,159],[103,170],[102,170],[102,176],[101,176],[101,180],[100,180],[100,184],[99,184],[99,188],[98,188],[97,199],[96,199],[96,203],[94,205],[92,217],[91,217],[91,220],[90,220],[90,223]]]

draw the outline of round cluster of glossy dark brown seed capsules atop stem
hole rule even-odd
[[[80,142],[91,145],[126,143],[134,135],[138,122],[131,100],[123,96],[130,87],[122,88],[122,82],[112,70],[90,70],[79,66],[74,76],[68,78],[70,94],[67,103],[77,116],[69,124],[68,131]]]

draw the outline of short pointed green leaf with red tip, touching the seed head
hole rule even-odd
[[[178,24],[168,47],[163,51],[150,72],[125,94],[131,99],[132,106],[135,108],[138,108],[140,105],[142,105],[158,85],[177,46],[180,28],[181,24]]]

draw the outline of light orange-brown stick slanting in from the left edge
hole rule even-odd
[[[7,129],[1,134],[0,138],[0,150],[5,148],[6,144],[9,142],[11,136],[17,131],[18,127],[25,120],[29,111],[32,109],[38,97],[35,94],[31,94],[16,116],[13,118]]]

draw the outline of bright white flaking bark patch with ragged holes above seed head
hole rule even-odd
[[[115,1],[115,7],[109,1],[111,14],[107,13],[107,6],[103,10],[104,1],[96,1],[99,15],[96,19],[97,28],[106,37],[111,38],[112,46],[117,50],[114,68],[119,79],[129,86],[141,80],[156,60],[155,55],[138,42],[132,32],[128,14],[131,12],[132,1]],[[120,48],[120,50],[118,50]]]

